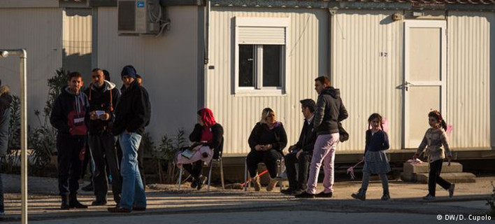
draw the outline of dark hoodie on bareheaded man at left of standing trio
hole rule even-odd
[[[70,134],[69,130],[77,130],[73,134],[85,137],[87,133],[87,120],[85,114],[89,102],[86,94],[80,92],[78,95],[71,94],[69,87],[62,88],[61,93],[55,99],[50,114],[50,123],[55,127],[59,134]]]

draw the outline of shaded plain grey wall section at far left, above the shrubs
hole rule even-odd
[[[27,50],[28,123],[38,126],[34,111],[43,113],[48,99],[48,78],[62,66],[61,8],[1,8],[0,48]],[[19,57],[0,58],[2,85],[20,95]],[[41,115],[43,120],[43,116]]]

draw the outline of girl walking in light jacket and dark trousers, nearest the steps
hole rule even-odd
[[[449,165],[452,158],[452,153],[450,152],[449,144],[447,143],[447,135],[445,134],[447,124],[445,123],[445,120],[443,120],[440,111],[431,111],[428,113],[428,122],[430,128],[426,130],[423,141],[413,156],[413,159],[416,160],[424,151],[424,148],[426,148],[424,156],[428,158],[428,162],[430,163],[430,174],[428,176],[429,193],[424,196],[423,199],[435,200],[435,188],[437,183],[445,190],[448,190],[449,197],[452,197],[454,195],[455,184],[449,183],[440,177],[445,154],[447,154]]]

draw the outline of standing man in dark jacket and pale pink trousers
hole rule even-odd
[[[339,141],[338,123],[347,118],[347,110],[340,98],[340,90],[330,85],[327,76],[315,79],[315,90],[318,92],[315,118],[317,139],[311,158],[308,176],[308,188],[296,197],[332,197],[333,195],[333,162]],[[320,167],[324,165],[324,191],[315,195]]]

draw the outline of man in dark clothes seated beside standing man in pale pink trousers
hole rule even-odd
[[[316,131],[313,128],[316,103],[313,99],[301,100],[301,109],[304,116],[303,130],[299,141],[289,148],[289,154],[285,155],[285,167],[287,167],[287,179],[289,188],[282,190],[285,195],[299,195],[306,190],[308,181],[308,167],[315,147]],[[299,164],[299,178],[296,178],[296,164]]]

